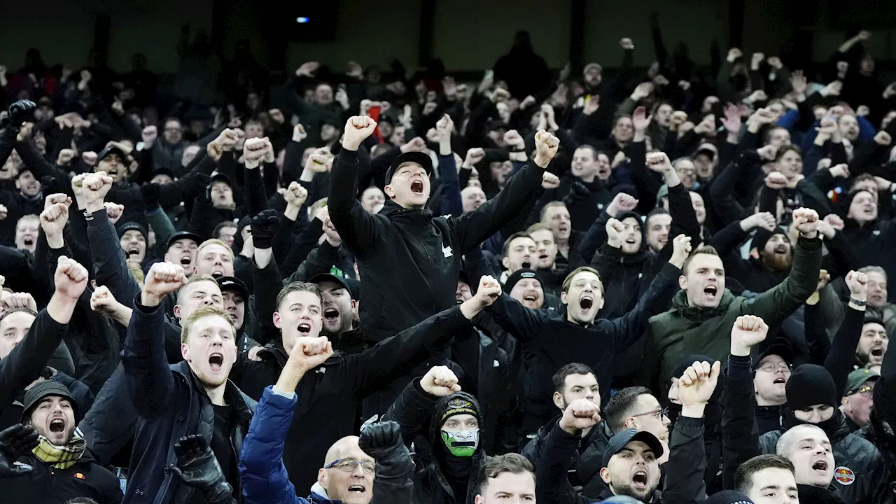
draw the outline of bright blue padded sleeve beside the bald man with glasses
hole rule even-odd
[[[239,477],[243,481],[245,504],[323,504],[332,502],[316,493],[311,501],[297,497],[296,487],[289,482],[286,465],[283,465],[283,448],[286,444],[292,413],[296,411],[297,395],[290,397],[274,394],[267,387],[258,401],[249,433],[239,455]],[[311,432],[309,435],[313,435]],[[321,461],[308,461],[320,464]],[[339,502],[339,501],[336,501]]]

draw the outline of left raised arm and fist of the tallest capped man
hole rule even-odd
[[[375,217],[358,201],[358,148],[376,123],[370,117],[350,117],[342,135],[342,150],[330,172],[330,218],[346,245],[361,258],[375,247]]]

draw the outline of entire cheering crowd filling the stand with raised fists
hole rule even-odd
[[[0,67],[0,501],[896,502],[896,83],[651,23],[646,74]]]

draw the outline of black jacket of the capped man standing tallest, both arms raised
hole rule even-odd
[[[530,164],[478,209],[446,218],[392,201],[380,213],[366,212],[355,197],[359,168],[358,152],[343,149],[332,167],[327,205],[358,260],[361,324],[373,341],[454,306],[461,256],[522,211],[545,171]]]

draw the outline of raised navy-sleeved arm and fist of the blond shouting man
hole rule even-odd
[[[137,414],[144,419],[166,414],[166,404],[174,400],[176,385],[165,353],[162,300],[185,283],[183,267],[156,263],[146,274],[140,297],[134,300],[121,361],[128,395]]]

